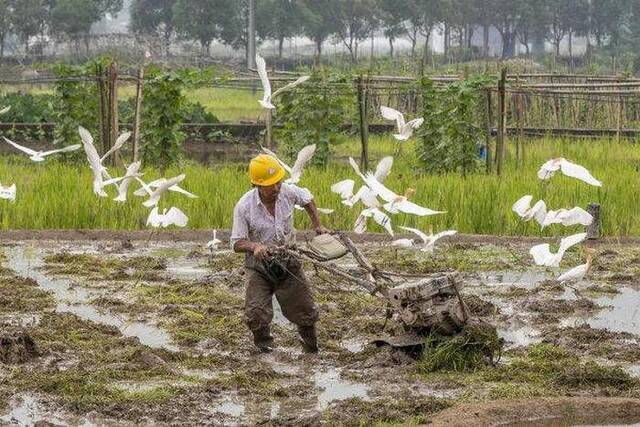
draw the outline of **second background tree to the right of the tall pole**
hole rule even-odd
[[[339,30],[335,10],[340,7],[340,0],[301,0],[300,12],[302,29],[316,45],[317,60],[322,55],[322,45],[330,35]]]

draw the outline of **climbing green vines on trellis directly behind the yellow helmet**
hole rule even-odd
[[[311,79],[276,99],[275,137],[287,157],[295,157],[305,145],[316,144],[313,160],[326,165],[333,147],[344,141],[341,127],[355,95],[349,75],[316,71]],[[279,101],[279,102],[278,102]]]

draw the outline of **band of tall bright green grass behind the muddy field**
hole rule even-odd
[[[372,138],[372,157],[392,154],[397,145],[389,138]],[[338,159],[326,168],[309,168],[300,183],[308,187],[322,207],[334,208],[333,215],[323,219],[327,226],[351,229],[357,209],[341,205],[330,192],[338,180],[354,178],[344,157],[359,153],[357,143],[336,148]],[[540,165],[553,157],[566,157],[589,168],[604,186],[591,187],[560,174],[543,185],[536,177]],[[374,167],[375,165],[372,165]],[[415,202],[447,214],[428,218],[395,215],[395,225],[416,226],[434,230],[457,229],[461,233],[497,235],[541,235],[533,223],[523,226],[511,212],[511,205],[525,194],[544,198],[552,209],[573,206],[586,207],[600,203],[603,208],[603,230],[610,236],[640,236],[640,147],[626,142],[566,141],[557,139],[531,140],[525,144],[524,166],[517,166],[509,155],[505,174],[500,178],[477,173],[425,175],[419,172],[413,147],[402,147],[386,184],[398,193],[406,188],[416,190]],[[190,218],[190,228],[229,228],[233,207],[250,184],[245,164],[204,167],[187,165],[166,172],[167,176],[184,171],[184,187],[200,196],[187,199],[170,194],[162,207],[178,206]],[[122,171],[121,171],[122,172]],[[145,179],[159,176],[153,169],[145,170]],[[0,182],[18,185],[18,200],[11,204],[0,200],[2,229],[142,229],[148,209],[142,199],[133,195],[125,204],[99,199],[91,189],[91,174],[84,164],[67,165],[47,161],[33,164],[23,157],[0,159]],[[132,186],[135,187],[135,186]],[[113,187],[109,190],[115,196]],[[131,191],[131,190],[130,190]],[[307,226],[304,213],[296,213],[299,227]],[[558,226],[554,226],[558,227]],[[551,227],[544,235],[557,235]],[[578,230],[579,228],[576,228]],[[371,231],[381,231],[371,225]],[[562,230],[564,232],[564,230]]]

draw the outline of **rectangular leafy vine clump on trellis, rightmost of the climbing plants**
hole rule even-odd
[[[445,89],[422,79],[424,124],[417,154],[428,172],[474,172],[479,166],[478,142],[484,136],[482,94],[486,77],[456,82]]]

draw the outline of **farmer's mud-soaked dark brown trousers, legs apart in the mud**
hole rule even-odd
[[[245,321],[253,332],[256,346],[271,346],[272,297],[275,294],[284,317],[298,327],[305,349],[317,351],[318,309],[302,269],[292,269],[291,273],[284,280],[274,282],[256,270],[246,270]]]

